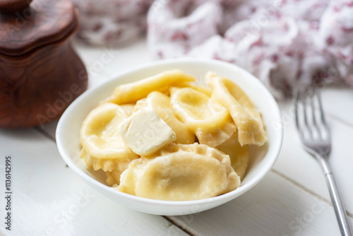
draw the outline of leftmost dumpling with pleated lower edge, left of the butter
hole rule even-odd
[[[85,159],[93,170],[125,170],[131,160],[138,158],[121,140],[117,127],[129,117],[132,107],[103,103],[88,114],[80,130],[80,143]]]

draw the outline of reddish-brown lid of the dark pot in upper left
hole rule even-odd
[[[26,54],[68,37],[77,27],[69,0],[0,0],[0,54]]]

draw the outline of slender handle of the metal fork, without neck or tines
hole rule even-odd
[[[345,207],[342,204],[340,198],[340,193],[338,192],[335,179],[333,178],[333,173],[330,170],[330,165],[328,164],[327,158],[320,156],[318,158],[325,172],[325,179],[328,184],[328,190],[330,191],[331,201],[333,202],[333,208],[335,209],[336,218],[338,225],[340,227],[340,232],[342,236],[352,236],[352,230],[349,227],[347,213]]]

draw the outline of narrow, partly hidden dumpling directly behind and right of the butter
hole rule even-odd
[[[180,122],[174,116],[173,110],[169,105],[170,98],[167,95],[160,92],[152,92],[147,97],[147,104],[157,112],[177,135],[177,140],[174,143],[190,144],[195,142],[195,135],[189,131],[186,124]]]

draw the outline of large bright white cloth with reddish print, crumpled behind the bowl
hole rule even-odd
[[[237,64],[277,99],[299,83],[353,85],[353,1],[157,0],[148,46],[160,59]]]

